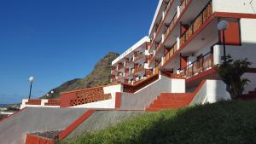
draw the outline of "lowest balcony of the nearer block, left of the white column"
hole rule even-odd
[[[201,59],[195,60],[189,66],[180,71],[180,74],[186,76],[186,78],[193,77],[201,72],[205,72],[213,67],[213,55],[212,52],[207,55],[203,55]]]

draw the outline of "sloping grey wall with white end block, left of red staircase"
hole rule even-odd
[[[184,93],[185,80],[173,80],[160,75],[160,78],[157,81],[152,84],[148,84],[148,86],[138,90],[135,94],[122,94],[120,109],[144,110],[152,101],[154,101],[154,99],[156,99],[158,95],[160,95],[161,92]]]

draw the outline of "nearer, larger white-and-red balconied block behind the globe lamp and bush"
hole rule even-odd
[[[202,79],[217,79],[213,66],[222,62],[223,32],[218,22],[226,20],[227,55],[247,58],[256,66],[256,2],[253,0],[160,0],[150,27],[150,67],[186,76],[187,89]],[[252,88],[256,87],[253,74]]]

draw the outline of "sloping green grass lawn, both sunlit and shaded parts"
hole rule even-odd
[[[256,101],[221,101],[147,113],[61,144],[253,144]]]

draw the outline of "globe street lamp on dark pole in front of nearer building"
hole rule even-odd
[[[228,28],[229,22],[227,20],[220,20],[218,22],[218,31],[222,32],[223,36],[223,48],[224,48],[224,65],[226,64],[226,45],[225,45],[225,30]]]

